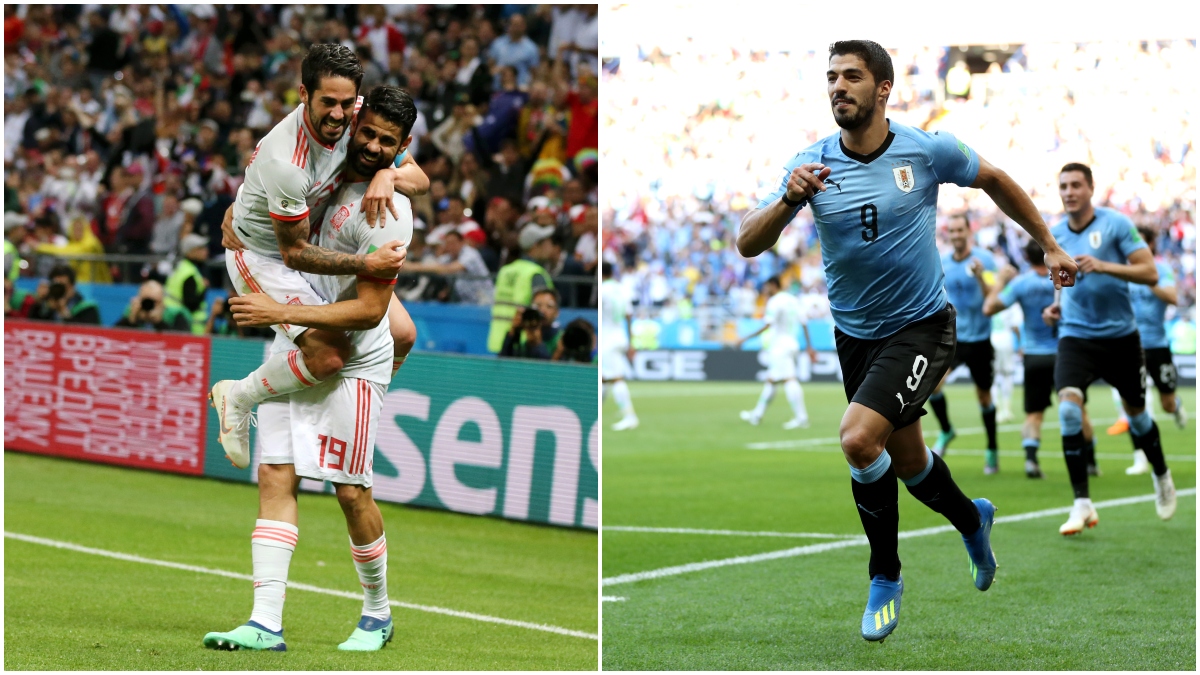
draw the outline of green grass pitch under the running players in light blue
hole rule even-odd
[[[829,537],[862,536],[836,443],[846,410],[842,388],[805,384],[812,424],[797,431],[780,428],[791,418],[782,392],[760,426],[738,418],[761,388],[634,383],[641,426],[620,432],[607,429],[619,414],[611,398],[604,402],[604,669],[1196,668],[1194,422],[1180,430],[1157,413],[1176,486],[1193,489],[1180,497],[1170,521],[1158,519],[1153,502],[1141,501],[1100,504],[1099,525],[1072,538],[1058,534],[1064,514],[998,522],[992,545],[1000,569],[985,593],[971,583],[956,532],[901,539],[900,623],[884,643],[871,644],[858,634],[869,550]],[[952,386],[946,394],[960,429],[947,462],[968,496],[992,500],[997,516],[1070,506],[1054,407],[1046,411],[1040,453],[1045,479],[1031,480],[1022,471],[1020,388],[1013,399],[1018,418],[1001,425],[1001,472],[984,476],[986,443],[973,388]],[[1195,411],[1195,389],[1181,394]],[[1108,388],[1093,387],[1091,399],[1103,471],[1092,479],[1092,500],[1151,495],[1148,476],[1124,474],[1132,460],[1128,435],[1105,435],[1115,419]],[[922,422],[932,443],[937,420],[929,414]],[[944,525],[901,485],[901,532]],[[802,546],[811,546],[808,555],[752,557]],[[749,560],[730,563],[739,556]],[[684,567],[706,561],[726,565]],[[679,567],[685,572],[629,580]]]

